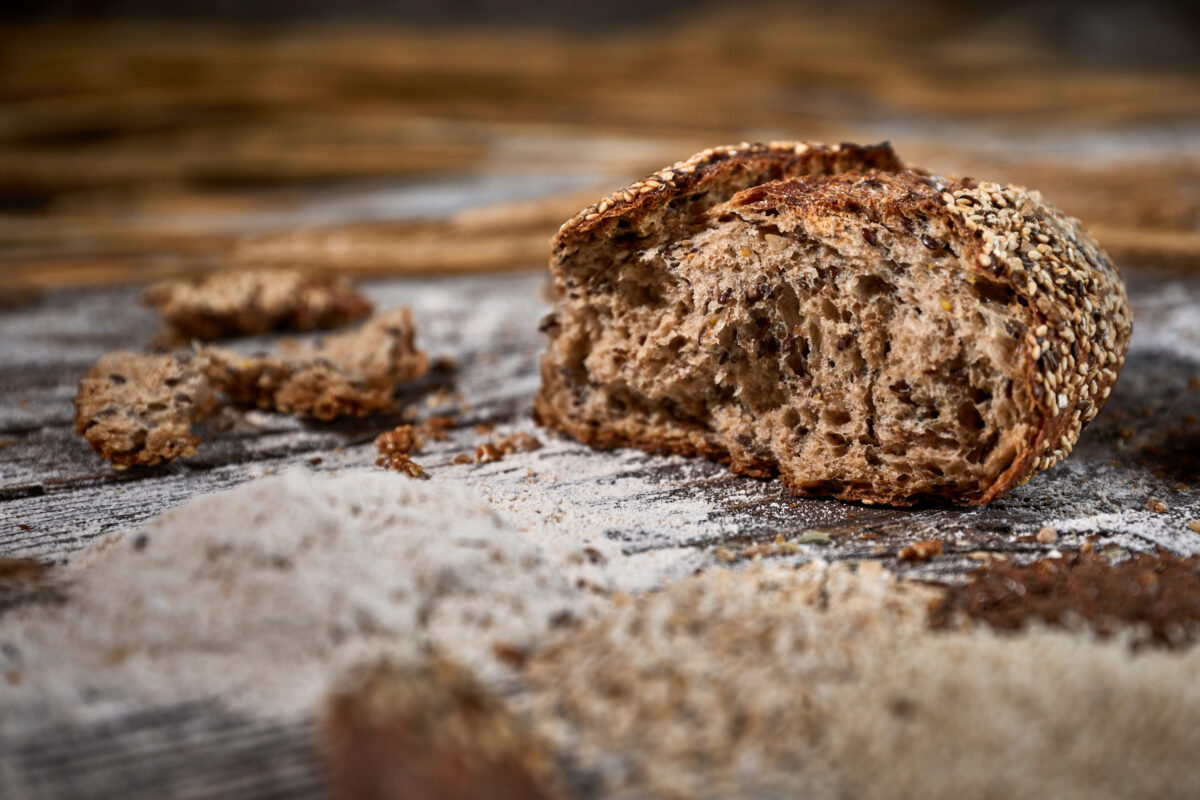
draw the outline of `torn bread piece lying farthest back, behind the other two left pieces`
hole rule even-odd
[[[223,270],[146,289],[173,342],[338,327],[371,313],[344,279],[300,270]]]

